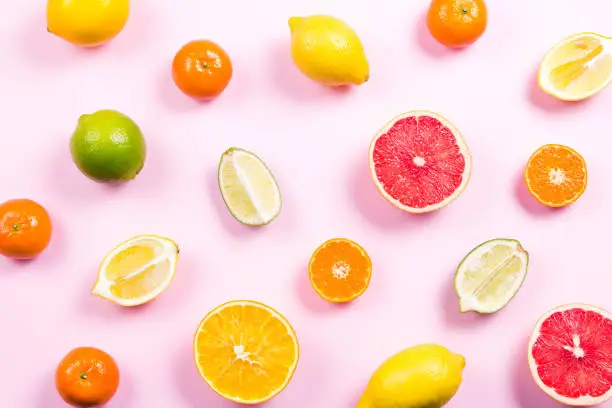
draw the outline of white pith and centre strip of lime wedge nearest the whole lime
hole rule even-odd
[[[262,172],[267,175],[268,181],[274,187],[275,197],[273,199],[274,201],[276,201],[275,208],[270,209],[270,211],[268,212],[263,209],[263,206],[261,205],[261,197],[257,194],[256,190],[251,185],[249,177],[244,171],[244,169],[242,169],[236,162],[236,158],[238,156],[249,157],[251,160],[253,160],[254,163],[257,163]],[[232,166],[232,168],[235,170],[240,184],[244,188],[249,200],[253,204],[253,207],[255,207],[255,210],[257,212],[256,219],[247,218],[244,214],[239,214],[235,209],[232,208],[232,200],[230,198],[230,194],[227,191],[226,183],[223,179],[223,169],[226,166]],[[246,150],[232,148],[223,154],[221,158],[221,163],[219,165],[219,188],[221,190],[221,195],[223,196],[223,199],[228,206],[228,209],[230,210],[232,215],[236,217],[241,223],[247,225],[267,224],[274,218],[276,218],[281,211],[280,189],[278,188],[278,184],[276,183],[274,176],[258,156]]]

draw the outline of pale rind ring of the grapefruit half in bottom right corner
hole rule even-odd
[[[612,387],[610,387],[610,390],[608,390],[607,393],[605,393],[601,397],[596,397],[596,398],[591,397],[591,396],[581,396],[579,398],[568,398],[568,397],[559,395],[555,392],[554,389],[544,384],[544,382],[542,381],[542,379],[540,378],[538,374],[538,366],[532,355],[533,346],[535,345],[535,343],[538,340],[538,337],[540,336],[540,328],[542,327],[542,323],[544,323],[554,313],[563,312],[565,310],[571,310],[571,309],[583,309],[586,311],[596,312],[602,315],[603,317],[612,320],[612,314],[610,312],[604,309],[595,307],[595,306],[584,304],[584,303],[571,303],[571,304],[566,304],[566,305],[556,307],[548,311],[544,315],[542,315],[540,319],[537,321],[535,328],[533,329],[533,332],[531,333],[531,337],[529,339],[529,345],[527,347],[527,361],[529,362],[529,370],[531,371],[531,376],[533,377],[533,380],[536,382],[538,387],[540,387],[540,389],[544,391],[549,397],[551,397],[557,402],[560,402],[561,404],[565,404],[565,405],[569,405],[573,407],[590,407],[593,405],[604,403],[608,401],[610,398],[612,398]]]

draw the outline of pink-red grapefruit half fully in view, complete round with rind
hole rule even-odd
[[[395,117],[370,145],[370,172],[378,191],[410,213],[437,210],[465,189],[472,159],[448,120],[429,111]]]

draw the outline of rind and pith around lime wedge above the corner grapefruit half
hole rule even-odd
[[[514,252],[512,255],[517,256],[521,261],[520,278],[516,279],[514,281],[514,285],[506,291],[506,296],[501,299],[498,299],[498,301],[494,302],[493,304],[487,305],[483,302],[480,302],[474,296],[473,293],[462,293],[461,283],[464,279],[466,279],[466,268],[468,266],[468,262],[473,259],[480,260],[483,254],[488,252],[493,246],[496,245],[505,245],[513,249]],[[506,307],[512,301],[512,299],[514,299],[516,294],[523,286],[525,278],[527,277],[528,267],[529,253],[516,239],[495,238],[478,245],[461,260],[461,263],[457,267],[457,271],[455,273],[455,293],[457,294],[457,298],[459,299],[459,310],[461,311],[461,313],[476,312],[480,314],[491,314],[500,311],[501,309]],[[497,272],[499,272],[499,270]],[[495,274],[492,277],[487,277],[486,282],[490,282],[494,277]]]

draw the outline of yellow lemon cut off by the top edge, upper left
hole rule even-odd
[[[121,32],[129,0],[48,0],[47,30],[82,47],[95,47]]]

